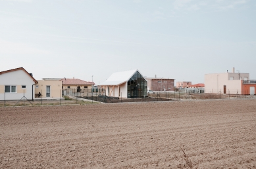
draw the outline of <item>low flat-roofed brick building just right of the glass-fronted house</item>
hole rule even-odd
[[[174,91],[174,79],[164,77],[145,77],[147,80],[147,90],[153,91]]]

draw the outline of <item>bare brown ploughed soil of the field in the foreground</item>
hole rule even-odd
[[[256,168],[256,100],[0,107],[0,168],[182,168],[180,147]]]

